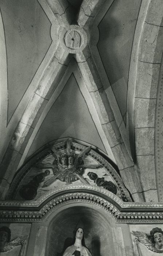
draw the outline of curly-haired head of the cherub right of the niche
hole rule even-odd
[[[155,244],[156,249],[163,249],[163,231],[155,227],[150,231],[151,241]]]

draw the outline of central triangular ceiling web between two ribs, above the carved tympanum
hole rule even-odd
[[[90,143],[106,153],[73,74],[40,126],[28,157],[44,144],[67,137]]]

